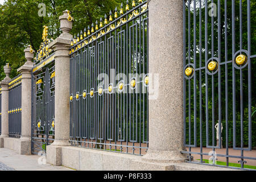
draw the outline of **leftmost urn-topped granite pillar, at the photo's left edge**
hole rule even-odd
[[[9,81],[11,78],[9,74],[11,72],[11,67],[7,63],[3,70],[5,71],[6,77],[0,82],[2,86],[2,133],[0,136],[0,148],[3,147],[3,138],[9,137]]]

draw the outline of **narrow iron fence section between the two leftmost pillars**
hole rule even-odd
[[[22,112],[22,76],[9,82],[9,137],[20,138]]]

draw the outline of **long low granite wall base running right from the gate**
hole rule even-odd
[[[230,170],[191,163],[156,163],[142,156],[73,146],[47,146],[47,163],[86,171],[218,171]]]

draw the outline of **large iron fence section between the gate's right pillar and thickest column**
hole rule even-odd
[[[100,24],[88,26],[71,40],[72,145],[135,155],[146,153],[147,29],[146,2],[134,1],[129,7],[127,1],[120,11],[110,11]]]

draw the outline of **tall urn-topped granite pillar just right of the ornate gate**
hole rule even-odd
[[[47,163],[61,165],[61,147],[69,146],[69,47],[73,36],[72,20],[68,10],[59,17],[63,33],[53,40],[49,48],[55,52],[55,140],[47,146]],[[73,19],[73,18],[72,18]]]

